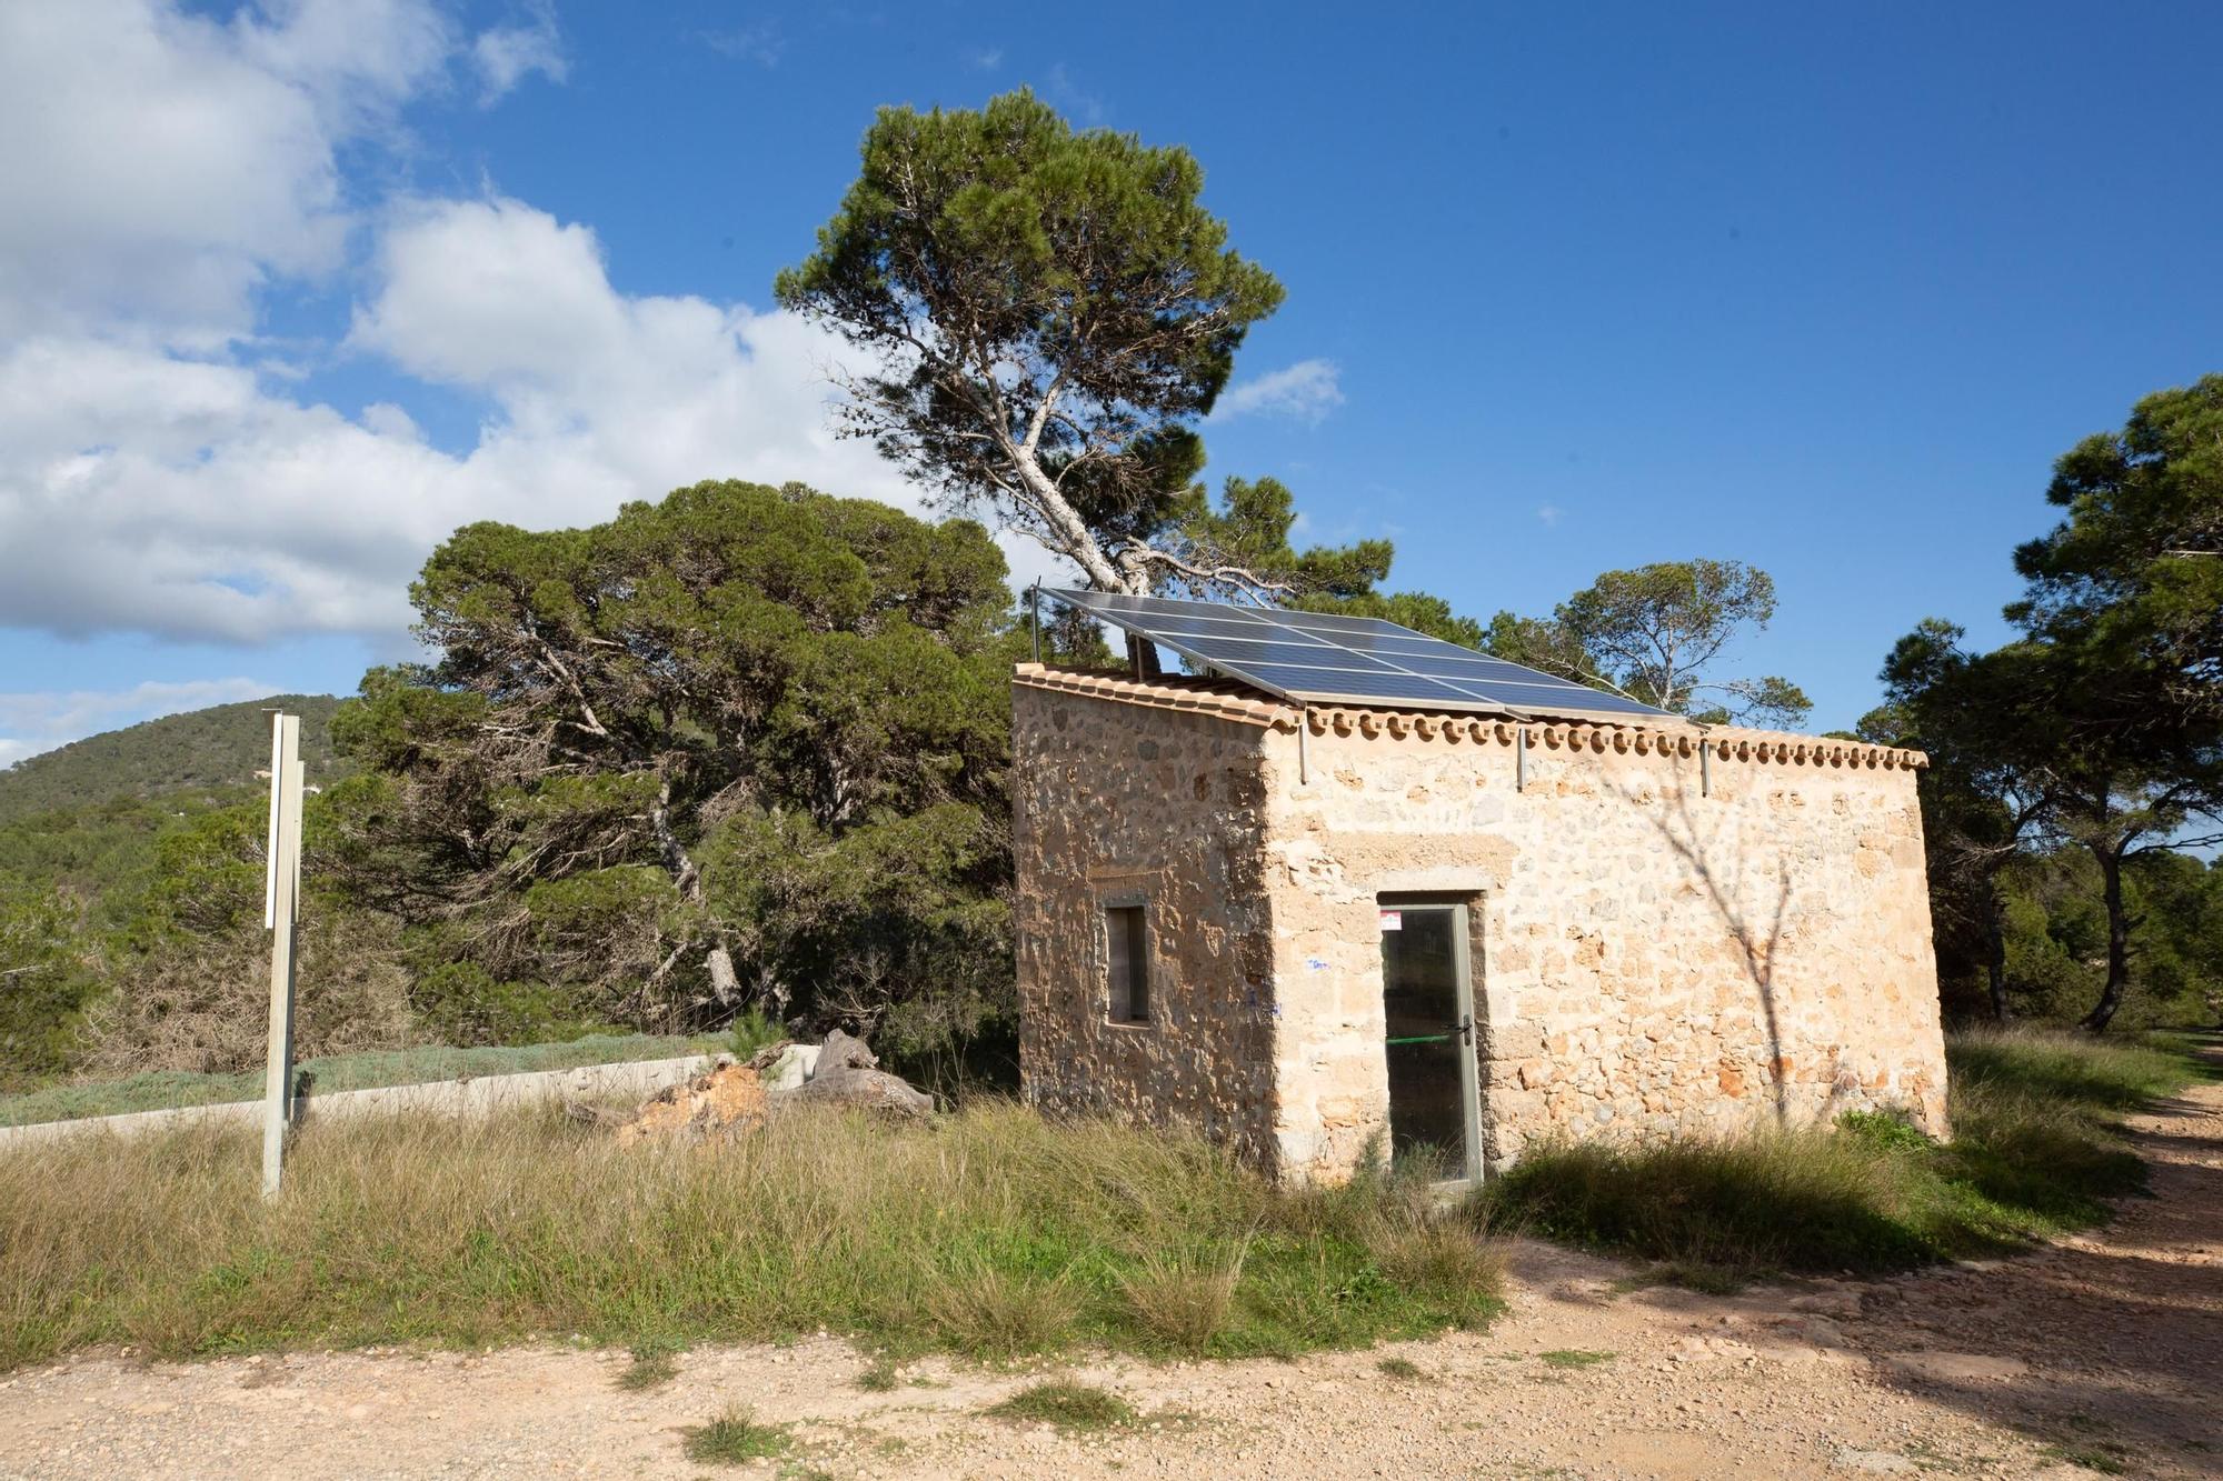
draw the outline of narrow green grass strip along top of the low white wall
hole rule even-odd
[[[385,1085],[418,1085],[482,1074],[527,1074],[534,1070],[576,1070],[580,1065],[616,1065],[640,1058],[678,1058],[682,1054],[714,1054],[722,1047],[727,1047],[722,1038],[589,1034],[587,1038],[571,1038],[567,1043],[527,1043],[489,1050],[422,1047],[333,1054],[329,1058],[305,1058],[298,1067],[311,1076],[311,1094],[329,1094],[333,1090],[378,1090]],[[24,1094],[0,1096],[0,1125],[120,1116],[124,1112],[260,1099],[260,1070],[240,1074],[165,1070],[133,1074],[124,1081],[47,1085]]]

